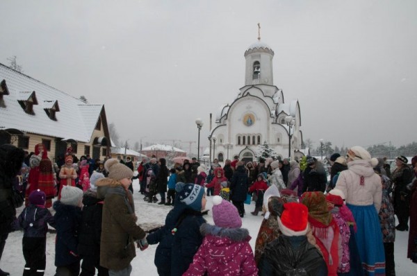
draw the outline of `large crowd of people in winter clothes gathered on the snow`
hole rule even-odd
[[[395,230],[409,231],[417,263],[417,156],[412,167],[397,157],[393,171],[361,146],[330,160],[327,173],[309,156],[209,168],[194,158],[171,169],[145,157],[135,174],[130,159],[77,160],[69,148],[52,163],[42,144],[30,157],[3,145],[0,257],[8,233],[23,230],[23,275],[44,275],[50,225],[56,275],[130,275],[136,246],[156,244],[158,275],[395,275]],[[162,227],[138,225],[133,179],[144,200],[172,206]],[[208,196],[214,225],[203,217]],[[251,214],[263,216],[254,251],[242,224],[251,200]]]

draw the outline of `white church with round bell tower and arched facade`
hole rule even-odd
[[[304,156],[300,105],[285,102],[282,89],[274,85],[273,58],[274,51],[260,37],[245,51],[245,86],[232,103],[220,107],[208,137],[213,159],[255,161],[264,142],[280,159]]]

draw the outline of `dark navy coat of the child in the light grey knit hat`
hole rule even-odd
[[[56,211],[55,266],[67,266],[79,261],[78,238],[81,208],[54,202]],[[76,255],[76,256],[74,256]]]

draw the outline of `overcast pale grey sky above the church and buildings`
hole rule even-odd
[[[24,74],[104,103],[131,145],[197,141],[197,117],[208,144],[209,114],[244,85],[258,22],[275,85],[300,101],[304,139],[417,141],[414,0],[3,0],[0,10],[0,62],[17,55]]]

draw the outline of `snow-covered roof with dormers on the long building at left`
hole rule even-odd
[[[104,105],[85,103],[0,63],[1,80],[6,80],[10,94],[3,96],[6,107],[0,107],[0,130],[15,128],[38,135],[90,142]],[[27,101],[33,92],[39,104],[33,105],[34,114],[28,114],[18,101]],[[54,121],[44,109],[56,103],[59,112]]]

